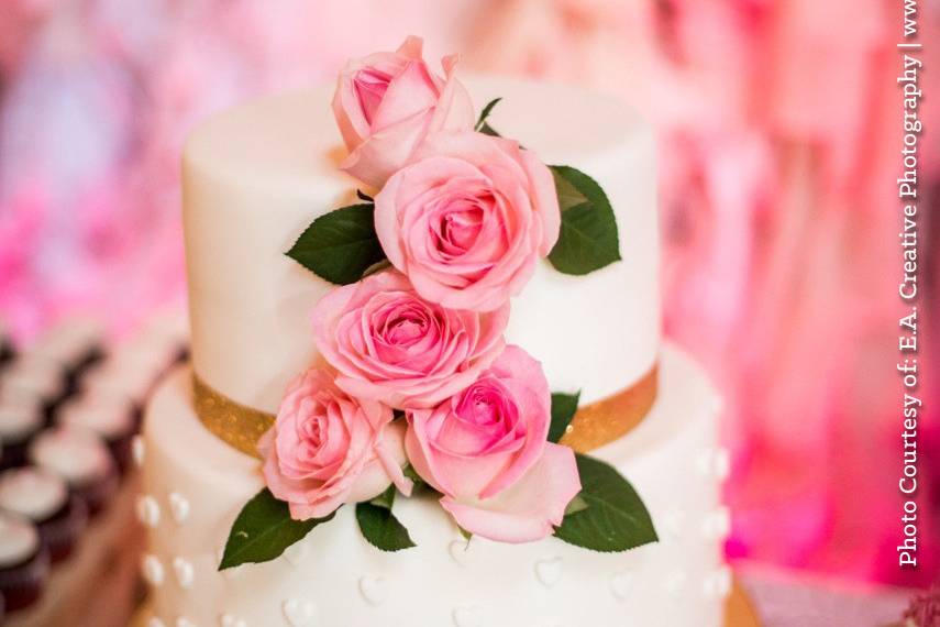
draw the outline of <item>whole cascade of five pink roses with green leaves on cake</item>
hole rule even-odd
[[[559,443],[577,396],[504,331],[510,298],[548,258],[582,275],[619,261],[600,187],[549,167],[477,118],[409,37],[352,61],[333,112],[369,190],[317,218],[287,254],[339,285],[312,311],[324,363],[301,373],[258,443],[266,487],[239,515],[220,569],[275,559],[338,508],[386,551],[414,546],[397,494],[434,494],[464,535],[555,535],[601,551],[656,540],[642,501],[604,462]]]

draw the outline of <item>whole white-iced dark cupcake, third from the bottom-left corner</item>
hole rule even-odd
[[[104,510],[118,490],[118,473],[108,448],[87,430],[56,427],[43,431],[30,447],[29,459],[60,476],[92,518]]]

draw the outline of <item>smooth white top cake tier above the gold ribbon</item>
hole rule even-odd
[[[623,261],[568,276],[542,261],[512,300],[507,340],[544,364],[553,389],[609,396],[654,365],[660,345],[655,147],[622,103],[571,86],[466,81],[489,121],[546,164],[594,177],[617,215]],[[192,361],[210,386],[276,411],[317,356],[310,312],[332,285],[284,253],[318,216],[355,201],[330,109],[332,88],[264,98],[200,125],[183,163]]]

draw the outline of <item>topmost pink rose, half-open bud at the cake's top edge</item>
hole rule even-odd
[[[350,150],[342,169],[378,188],[425,134],[473,128],[473,102],[453,77],[456,57],[442,65],[443,78],[431,73],[421,58],[420,37],[408,37],[394,53],[346,65],[333,96],[333,113]]]

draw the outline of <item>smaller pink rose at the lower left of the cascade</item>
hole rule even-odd
[[[351,398],[328,372],[308,371],[290,383],[274,427],[258,441],[268,488],[297,520],[374,498],[392,482],[410,494],[403,428],[391,419],[391,409]]]

